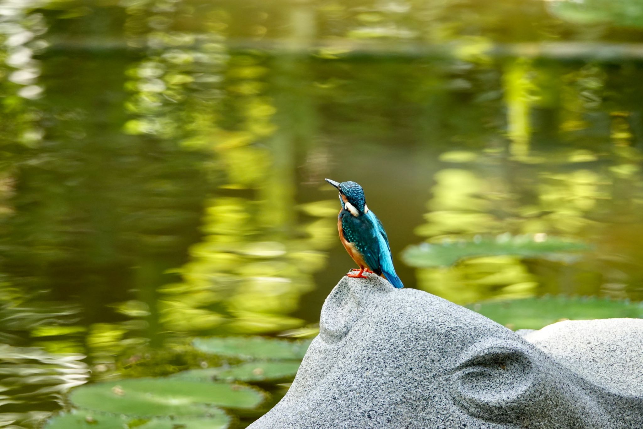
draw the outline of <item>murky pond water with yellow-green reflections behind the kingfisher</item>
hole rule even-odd
[[[354,267],[324,178],[363,185],[408,288],[642,300],[643,12],[420,3],[0,6],[0,342],[109,379],[194,336],[314,333]],[[505,233],[588,250],[401,259]]]

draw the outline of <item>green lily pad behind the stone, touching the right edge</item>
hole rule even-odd
[[[541,297],[489,300],[467,306],[512,329],[540,329],[559,320],[643,318],[643,303],[586,297]]]

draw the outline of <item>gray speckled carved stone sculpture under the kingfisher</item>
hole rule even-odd
[[[252,429],[643,428],[643,320],[516,334],[375,275],[344,277],[286,396]]]

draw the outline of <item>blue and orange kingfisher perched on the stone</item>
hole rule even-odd
[[[362,187],[353,181],[325,181],[340,192],[341,210],[337,216],[340,241],[359,266],[359,269],[350,270],[359,273],[349,273],[347,276],[367,278],[363,274],[367,271],[386,278],[397,289],[404,288],[402,280],[395,273],[384,226],[377,216],[368,210]]]

